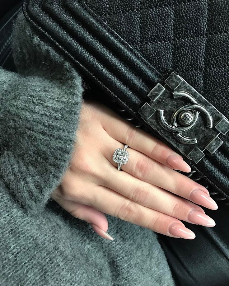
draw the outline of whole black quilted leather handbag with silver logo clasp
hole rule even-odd
[[[229,1],[26,0],[23,12],[229,198]]]

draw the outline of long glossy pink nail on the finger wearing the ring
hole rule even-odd
[[[195,189],[193,190],[189,198],[196,204],[201,204],[203,207],[208,209],[218,209],[216,202],[202,190]]]

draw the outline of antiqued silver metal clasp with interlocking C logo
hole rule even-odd
[[[150,103],[138,110],[141,117],[195,163],[205,149],[213,153],[223,143],[219,135],[227,133],[229,121],[179,75],[171,73],[148,97]]]

